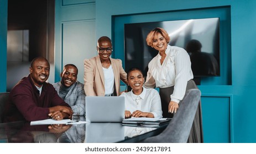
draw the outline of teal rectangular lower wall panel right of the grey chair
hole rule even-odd
[[[228,143],[231,141],[230,97],[202,96],[203,137],[205,142]]]

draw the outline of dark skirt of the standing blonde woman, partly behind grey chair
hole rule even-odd
[[[198,89],[193,80],[189,80],[187,82],[186,91],[189,89]],[[169,107],[169,103],[171,101],[170,95],[173,94],[173,91],[174,91],[174,86],[166,87],[166,88],[159,88],[159,94],[161,97],[161,106],[162,106],[164,118],[173,118],[173,113],[168,113],[168,107]],[[180,102],[180,103],[182,103],[182,102]],[[194,118],[194,122],[192,124],[189,139],[187,140],[187,142],[190,142],[190,143],[202,143],[203,142],[201,100],[197,107],[196,115]]]

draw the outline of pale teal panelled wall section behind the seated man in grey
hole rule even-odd
[[[55,82],[67,63],[79,69],[83,83],[83,59],[97,54],[95,38],[95,1],[55,1]]]

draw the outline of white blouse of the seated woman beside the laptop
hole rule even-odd
[[[150,112],[154,118],[162,118],[161,99],[157,90],[143,88],[142,94],[135,95],[133,91],[123,92],[125,110],[133,113],[136,110]]]

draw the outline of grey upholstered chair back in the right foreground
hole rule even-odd
[[[169,142],[186,143],[189,138],[192,123],[195,118],[201,91],[198,89],[187,90],[186,95],[180,102],[179,109],[166,129],[159,135],[152,136],[142,142]]]

